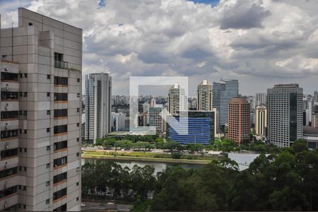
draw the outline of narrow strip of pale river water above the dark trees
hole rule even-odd
[[[107,161],[110,160],[103,160],[103,159],[82,159],[82,165],[85,163],[96,163],[96,160],[100,160],[101,163],[107,163]],[[151,165],[155,168],[155,173],[161,172],[165,170],[166,167],[174,167],[177,165],[180,165],[184,169],[197,169],[199,167],[202,167],[201,164],[175,164],[175,163],[158,163],[158,162],[146,162],[146,161],[122,161],[122,160],[113,160],[117,164],[121,165],[122,167],[129,167],[130,169],[134,167],[134,165],[138,165],[140,167],[144,167],[145,165]]]

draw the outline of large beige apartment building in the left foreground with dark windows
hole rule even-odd
[[[80,211],[82,30],[19,8],[0,43],[0,210]]]

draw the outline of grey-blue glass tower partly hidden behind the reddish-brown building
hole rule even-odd
[[[218,110],[218,129],[222,130],[228,123],[228,103],[232,98],[238,97],[237,80],[220,80],[213,83],[213,108]]]

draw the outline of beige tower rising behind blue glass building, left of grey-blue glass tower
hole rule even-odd
[[[209,83],[207,80],[202,81],[198,85],[196,110],[212,110],[212,84]]]

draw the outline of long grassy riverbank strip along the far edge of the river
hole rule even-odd
[[[204,156],[203,156],[204,157]],[[177,164],[199,164],[204,165],[211,163],[212,160],[220,160],[220,158],[206,158],[206,160],[195,159],[173,159],[173,158],[155,158],[155,157],[141,157],[141,156],[127,156],[127,155],[103,155],[100,153],[92,153],[83,151],[83,159],[104,159],[104,160],[123,160],[123,161],[143,161],[143,162],[158,162],[158,163],[177,163]]]

